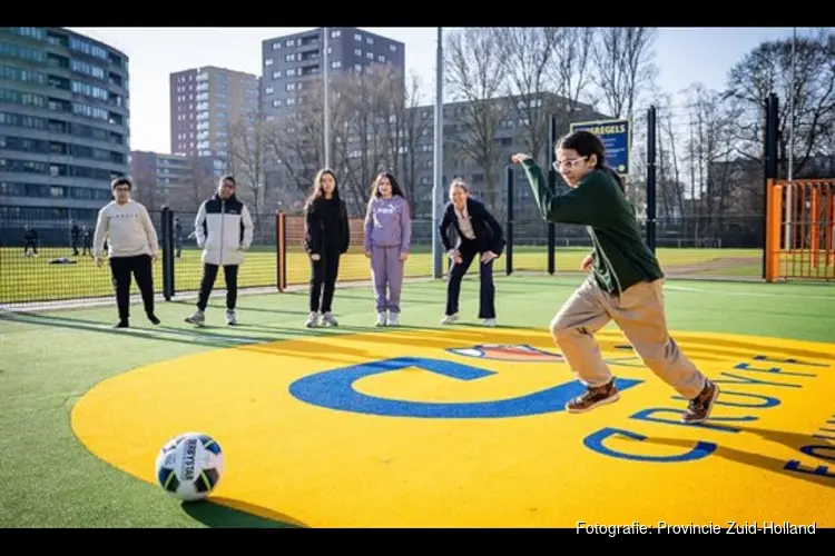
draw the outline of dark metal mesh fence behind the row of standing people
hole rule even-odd
[[[572,272],[590,251],[591,241],[582,226],[549,225],[530,210],[507,211],[502,222],[509,238],[497,272]],[[167,215],[167,216],[166,216]],[[169,219],[168,227],[164,225]],[[198,290],[203,272],[202,254],[194,238],[194,212],[155,211],[151,219],[164,250],[155,265],[158,294],[173,298]],[[275,214],[253,215],[254,241],[240,268],[242,288],[278,289],[279,276],[287,286],[304,286],[310,261],[303,251],[302,215],[286,215],[284,234],[278,234]],[[47,301],[110,298],[112,284],[107,266],[97,268],[90,248],[95,222],[14,221],[0,225],[0,305],[7,308]],[[340,281],[367,280],[369,261],[363,254],[362,219],[351,221],[351,247],[340,268]],[[670,276],[688,278],[748,278],[763,276],[763,217],[721,219],[680,218],[656,222],[657,255]],[[641,224],[645,227],[644,222]],[[27,227],[35,231],[29,231]],[[414,220],[413,249],[405,264],[406,277],[432,276],[432,221]],[[27,237],[33,237],[27,241]],[[549,246],[552,246],[549,248]],[[283,257],[283,259],[282,259]],[[283,275],[282,275],[283,265]],[[444,258],[444,271],[448,260]],[[219,278],[218,288],[223,288]]]

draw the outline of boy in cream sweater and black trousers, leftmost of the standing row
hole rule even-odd
[[[154,222],[144,205],[130,198],[134,185],[128,178],[116,178],[110,189],[114,200],[99,210],[92,239],[96,266],[101,267],[105,241],[108,244],[110,274],[116,289],[119,321],[115,328],[128,328],[130,317],[130,276],[143,296],[145,315],[154,325],[154,261],[159,258],[159,242]]]

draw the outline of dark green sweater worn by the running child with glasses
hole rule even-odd
[[[617,295],[638,282],[664,277],[641,238],[635,207],[608,172],[592,170],[576,188],[553,195],[536,161],[525,159],[522,168],[542,218],[587,226],[595,245],[593,274],[600,288]]]

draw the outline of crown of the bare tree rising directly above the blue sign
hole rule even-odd
[[[606,111],[616,118],[632,119],[640,95],[657,75],[654,27],[605,27],[597,30],[592,49],[595,85]]]

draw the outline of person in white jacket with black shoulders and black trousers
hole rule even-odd
[[[238,324],[235,310],[238,269],[244,264],[244,251],[253,242],[253,219],[246,205],[235,196],[236,188],[234,177],[220,178],[217,191],[203,201],[194,220],[197,247],[203,249],[203,278],[197,310],[186,317],[186,322],[191,325],[203,326],[206,322],[206,306],[220,267],[226,280],[226,324]]]

